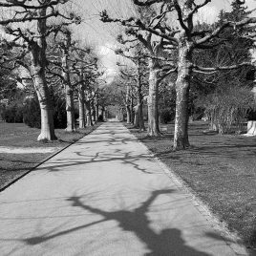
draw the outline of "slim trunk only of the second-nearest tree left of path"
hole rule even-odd
[[[68,64],[69,50],[71,47],[71,33],[65,33],[65,43],[62,49],[62,76],[66,90],[66,113],[67,113],[67,132],[75,131],[75,106],[74,106],[74,88],[70,79],[70,68]]]

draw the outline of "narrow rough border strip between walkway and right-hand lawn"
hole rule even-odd
[[[160,160],[160,158],[157,157],[156,154],[152,152],[139,138],[137,138],[123,123],[122,125],[135,139],[138,140],[139,145],[143,147],[148,152],[148,154],[156,160],[156,162],[160,165],[163,173],[169,179],[171,179],[179,189],[183,190],[191,196],[194,206],[203,215],[206,221],[221,234],[224,243],[230,246],[230,248],[237,256],[256,256],[256,251],[243,245],[240,236],[235,231],[230,231],[227,228],[227,224],[224,221],[221,221],[220,218],[210,210],[206,203],[203,203],[196,192],[185,181],[183,181],[178,174],[174,173],[174,171],[172,171],[169,166]]]

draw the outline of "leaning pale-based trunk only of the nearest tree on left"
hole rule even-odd
[[[46,9],[38,10],[38,16],[45,16]],[[30,42],[31,75],[41,110],[41,133],[37,140],[56,139],[53,126],[53,101],[45,78],[46,67],[46,19],[37,21],[37,41]]]

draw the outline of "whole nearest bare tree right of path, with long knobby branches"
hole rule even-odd
[[[213,30],[196,30],[194,26],[195,14],[210,3],[210,0],[203,0],[201,4],[197,4],[195,0],[133,0],[133,2],[142,8],[154,5],[160,13],[154,15],[150,23],[144,22],[143,19],[138,17],[131,17],[126,20],[111,19],[106,11],[101,12],[101,19],[106,22],[117,21],[139,31],[151,32],[155,36],[160,36],[163,44],[167,45],[170,50],[178,51],[174,150],[184,149],[189,146],[188,98],[192,73],[217,72],[251,65],[251,63],[242,62],[224,67],[200,67],[193,63],[194,50],[215,47],[214,38],[223,32],[224,29],[228,27],[241,28],[247,24],[256,23],[256,18],[245,18],[240,22],[226,20],[222,25],[217,26]],[[172,26],[172,22],[168,21],[170,15],[178,18],[178,26]]]

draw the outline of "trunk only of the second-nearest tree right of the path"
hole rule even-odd
[[[149,59],[149,92],[148,92],[148,135],[160,136],[159,125],[159,69],[155,60]]]

